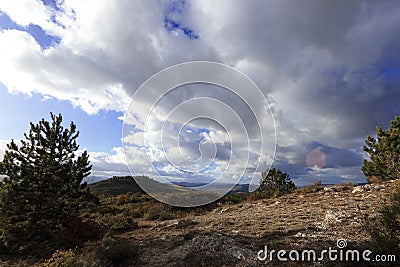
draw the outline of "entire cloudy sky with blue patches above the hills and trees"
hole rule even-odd
[[[0,157],[53,112],[77,124],[93,177],[245,183],[272,164],[297,185],[365,182],[364,140],[400,115],[398,25],[385,0],[0,0]],[[134,98],[191,61],[262,94],[197,83]]]

